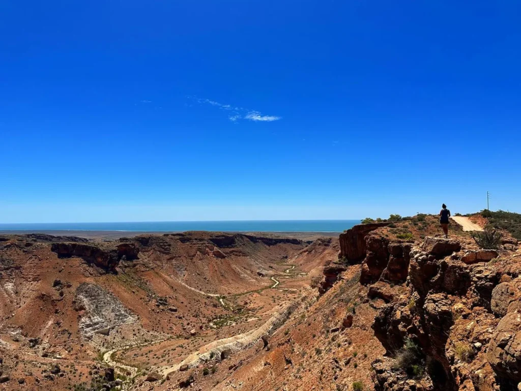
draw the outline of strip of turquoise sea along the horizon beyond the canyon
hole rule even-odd
[[[0,231],[232,231],[343,232],[360,220],[143,221],[1,224]]]

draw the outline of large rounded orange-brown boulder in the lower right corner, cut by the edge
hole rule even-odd
[[[521,382],[521,313],[509,312],[490,339],[487,359],[494,371]]]

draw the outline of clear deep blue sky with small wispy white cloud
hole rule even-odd
[[[521,212],[521,3],[3,1],[0,222]]]

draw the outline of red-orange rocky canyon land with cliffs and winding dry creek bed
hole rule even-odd
[[[515,390],[521,251],[463,228],[0,234],[0,389]]]

